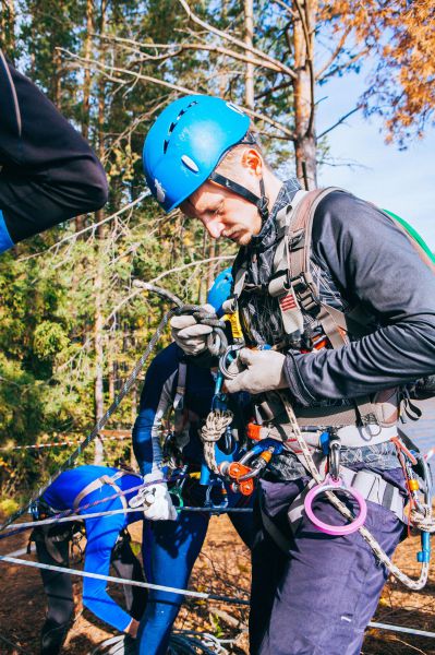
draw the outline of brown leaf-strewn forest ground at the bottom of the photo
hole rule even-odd
[[[140,540],[138,524],[133,526],[133,538]],[[1,553],[25,546],[25,537],[17,535],[1,541]],[[407,572],[418,572],[415,552],[419,539],[408,539],[396,556],[397,563]],[[210,591],[228,596],[247,598],[250,586],[249,551],[234,535],[225,516],[213,517],[203,552],[195,565],[191,588]],[[0,564],[0,655],[38,654],[38,632],[43,624],[45,597],[39,572],[35,569]],[[85,655],[98,643],[113,634],[80,604],[81,582],[76,582],[76,620],[69,633],[63,652]],[[114,594],[119,590],[112,587]],[[374,620],[419,630],[435,631],[435,574],[423,592],[409,592],[390,581],[383,593]],[[222,639],[233,639],[230,653],[247,653],[247,609],[217,603],[188,600],[177,621],[178,628],[207,631]],[[9,640],[9,646],[1,638]],[[227,646],[228,647],[228,646]],[[435,655],[433,639],[367,630],[364,655]]]

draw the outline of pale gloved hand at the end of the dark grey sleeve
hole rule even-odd
[[[276,391],[289,386],[283,372],[286,356],[276,350],[250,350],[242,348],[239,357],[228,368],[238,373],[232,380],[226,380],[228,393],[247,391],[252,394]]]

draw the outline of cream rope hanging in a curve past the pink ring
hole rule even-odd
[[[292,433],[298,441],[299,448],[302,451],[302,455],[305,461],[305,467],[309,471],[309,473],[312,475],[314,480],[317,483],[317,485],[321,485],[323,483],[322,475],[317,471],[316,465],[314,464],[312,454],[310,452],[310,449],[302,436],[301,428],[299,427],[298,419],[295,417],[293,407],[291,406],[288,398],[286,397],[286,394],[281,393],[280,397],[281,397],[282,404],[286,408],[286,413],[289,418]],[[341,500],[339,498],[337,498],[337,496],[335,496],[335,493],[333,493],[331,491],[326,491],[325,496],[327,497],[329,502],[340,512],[340,514],[342,516],[345,516],[349,521],[354,520],[352,512],[350,510],[348,510],[346,504],[343,502],[341,502]],[[430,512],[432,512],[432,508],[428,510],[428,515],[430,515]],[[412,522],[413,522],[413,519],[412,519]],[[416,524],[416,526],[420,529],[425,529],[425,528],[427,529],[427,525],[428,525],[428,523],[425,523],[423,519],[422,519],[421,523]],[[434,532],[434,531],[435,531],[435,526],[432,521],[431,532]],[[364,525],[359,528],[359,532],[360,532],[361,536],[363,537],[363,539],[372,548],[372,550],[375,553],[378,561],[382,562],[386,567],[386,569],[395,577],[397,577],[397,580],[399,580],[402,584],[404,584],[410,590],[414,590],[414,591],[422,590],[425,586],[425,584],[427,582],[427,576],[428,576],[428,562],[422,562],[419,579],[412,580],[406,573],[400,571],[400,569],[396,564],[392,563],[392,561],[390,560],[388,555],[384,551],[384,549],[377,543],[375,537],[368,532],[368,529],[366,527],[364,527]]]

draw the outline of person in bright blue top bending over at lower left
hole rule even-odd
[[[62,473],[45,491],[39,500],[39,516],[49,516],[64,510],[74,513],[99,513],[128,508],[128,502],[137,493],[142,477],[137,474],[106,466],[77,466]],[[120,492],[123,495],[120,495]],[[118,495],[117,498],[113,496]],[[107,499],[107,500],[105,500]],[[87,508],[89,503],[98,504]],[[118,513],[85,519],[86,550],[84,570],[109,575],[112,563],[120,577],[143,581],[142,567],[130,546],[128,525],[143,521],[141,511]],[[38,560],[44,563],[69,567],[69,547],[76,524],[58,523],[36,526],[33,539]],[[41,630],[41,655],[57,655],[67,636],[74,603],[72,581],[69,573],[41,571],[48,611]],[[141,587],[125,587],[128,611],[106,591],[106,582],[83,579],[83,605],[110,627],[136,636],[137,620],[146,600]]]

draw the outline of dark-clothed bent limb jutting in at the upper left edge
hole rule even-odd
[[[95,211],[107,201],[86,141],[0,50],[0,245]],[[8,240],[9,237],[9,240]],[[12,243],[11,243],[12,241]]]

